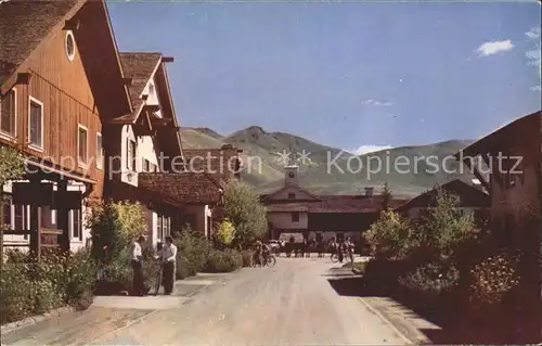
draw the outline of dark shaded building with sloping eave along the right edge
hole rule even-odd
[[[516,119],[457,153],[491,198],[490,229],[502,247],[519,249],[520,343],[538,343],[542,332],[542,118]],[[473,166],[472,157],[485,163]],[[481,170],[489,168],[489,179]]]

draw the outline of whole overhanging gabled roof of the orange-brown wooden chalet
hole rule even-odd
[[[82,24],[74,29],[74,37],[99,113],[113,116],[131,113],[104,0],[1,2],[1,93],[13,87],[18,72],[27,72],[25,68],[34,52],[47,44],[67,22]]]

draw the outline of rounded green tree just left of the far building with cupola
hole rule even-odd
[[[234,242],[241,246],[251,244],[268,230],[266,206],[244,182],[231,181],[225,187],[223,215],[233,223]]]

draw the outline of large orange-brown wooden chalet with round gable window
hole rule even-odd
[[[102,124],[131,112],[105,3],[2,2],[0,33],[0,143],[27,167],[3,187],[5,245],[38,248],[50,239],[37,231],[57,229],[75,249],[89,236],[85,202],[102,197]]]

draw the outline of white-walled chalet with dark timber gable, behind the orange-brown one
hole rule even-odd
[[[180,225],[179,197],[147,189],[145,174],[184,171],[179,126],[162,53],[119,53],[131,111],[104,124],[108,179],[104,197],[140,202],[147,220],[151,244]],[[142,182],[143,180],[143,182]]]

